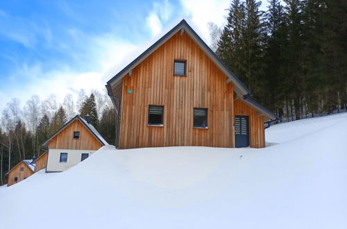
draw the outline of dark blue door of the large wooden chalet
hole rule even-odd
[[[248,116],[235,116],[235,147],[249,146]]]

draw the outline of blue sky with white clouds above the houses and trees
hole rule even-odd
[[[103,90],[117,69],[181,19],[209,42],[230,1],[0,1],[0,110],[32,94]]]

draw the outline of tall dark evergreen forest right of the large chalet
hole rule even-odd
[[[346,1],[260,4],[232,0],[223,30],[210,26],[221,60],[283,120],[346,111]]]

